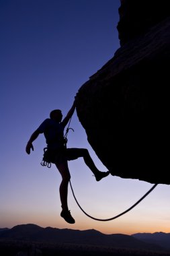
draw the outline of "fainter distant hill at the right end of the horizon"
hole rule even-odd
[[[145,243],[152,243],[155,245],[160,245],[161,247],[164,247],[166,249],[170,249],[170,233],[136,233],[132,234],[132,236]]]

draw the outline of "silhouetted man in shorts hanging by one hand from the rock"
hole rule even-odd
[[[46,138],[47,150],[48,152],[50,152],[50,162],[56,165],[56,168],[58,169],[62,177],[59,189],[62,207],[60,216],[70,224],[74,224],[75,220],[71,216],[67,204],[68,185],[71,179],[68,161],[83,157],[85,164],[87,164],[91,172],[93,172],[96,181],[100,181],[102,178],[107,177],[108,174],[110,174],[109,171],[101,172],[97,169],[87,149],[66,147],[64,141],[64,130],[75,111],[75,105],[76,98],[73,103],[73,106],[71,107],[71,109],[67,113],[67,116],[63,120],[61,110],[52,110],[50,112],[50,118],[45,119],[38,127],[38,129],[36,129],[36,131],[32,133],[26,146],[26,152],[30,154],[31,149],[34,150],[32,142],[35,139],[37,139],[40,133],[44,133],[44,137]]]

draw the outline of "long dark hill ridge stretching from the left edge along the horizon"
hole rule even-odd
[[[93,245],[126,249],[162,251],[160,245],[146,243],[136,235],[103,234],[97,230],[72,230],[42,228],[35,224],[23,224],[0,232],[0,241],[34,241],[46,243],[65,243],[68,245]]]

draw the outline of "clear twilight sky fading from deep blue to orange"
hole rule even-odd
[[[50,111],[60,108],[66,115],[79,88],[120,47],[118,7],[120,0],[0,0],[0,228],[34,223],[105,234],[170,232],[168,185],[158,185],[110,222],[85,216],[69,187],[69,210],[76,222],[67,224],[60,218],[60,174],[54,165],[40,165],[44,136],[34,141],[32,154],[25,152],[30,135]],[[87,148],[105,171],[76,112],[71,127],[75,131],[69,132],[68,147]],[[111,175],[97,183],[81,158],[69,162],[69,168],[77,200],[95,218],[124,212],[153,186]]]

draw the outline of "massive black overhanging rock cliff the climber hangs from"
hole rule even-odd
[[[161,184],[170,184],[168,2],[120,1],[120,49],[77,94],[79,121],[108,170]]]

